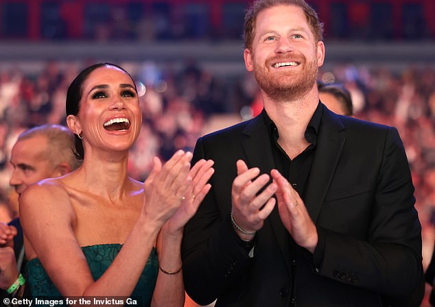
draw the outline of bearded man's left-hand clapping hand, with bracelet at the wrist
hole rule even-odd
[[[271,183],[259,193],[268,184],[270,176],[259,175],[257,167],[248,169],[243,160],[238,160],[236,165],[237,177],[231,191],[233,219],[244,232],[252,234],[234,228],[239,237],[246,241],[251,240],[255,232],[263,227],[264,220],[272,212],[276,202],[272,196],[277,191],[277,184]]]

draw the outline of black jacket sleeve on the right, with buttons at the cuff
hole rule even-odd
[[[321,229],[325,236],[319,273],[384,297],[423,297],[421,224],[403,144],[386,132],[366,239]],[[419,293],[416,295],[416,292]],[[418,306],[418,305],[414,305]]]

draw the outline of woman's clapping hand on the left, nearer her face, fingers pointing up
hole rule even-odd
[[[189,175],[191,152],[174,153],[163,166],[154,157],[154,167],[144,182],[143,214],[161,227],[180,207],[192,177]]]

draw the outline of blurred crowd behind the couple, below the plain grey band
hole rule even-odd
[[[47,62],[36,75],[18,69],[0,71],[0,221],[10,221],[17,210],[16,195],[9,186],[9,155],[16,136],[43,123],[65,125],[67,87],[84,65]],[[143,110],[141,134],[129,165],[130,175],[138,180],[148,175],[153,156],[166,160],[177,149],[193,150],[216,114],[242,121],[261,110],[250,74],[222,79],[193,61],[179,71],[160,71],[152,62],[128,70],[137,80]],[[397,71],[343,64],[320,71],[319,79],[343,84],[351,92],[355,117],[399,130],[416,188],[427,265],[435,222],[435,69]],[[222,120],[221,127],[231,120]]]

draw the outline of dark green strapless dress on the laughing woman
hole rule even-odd
[[[108,269],[121,247],[121,244],[101,244],[82,247],[94,280],[100,278],[106,269]],[[27,263],[27,269],[33,297],[62,296],[53,282],[51,282],[38,258],[30,260]],[[141,277],[130,296],[133,299],[137,299],[137,306],[150,306],[152,293],[156,286],[157,274],[158,257],[156,249],[153,247]],[[110,293],[108,294],[110,295]]]

